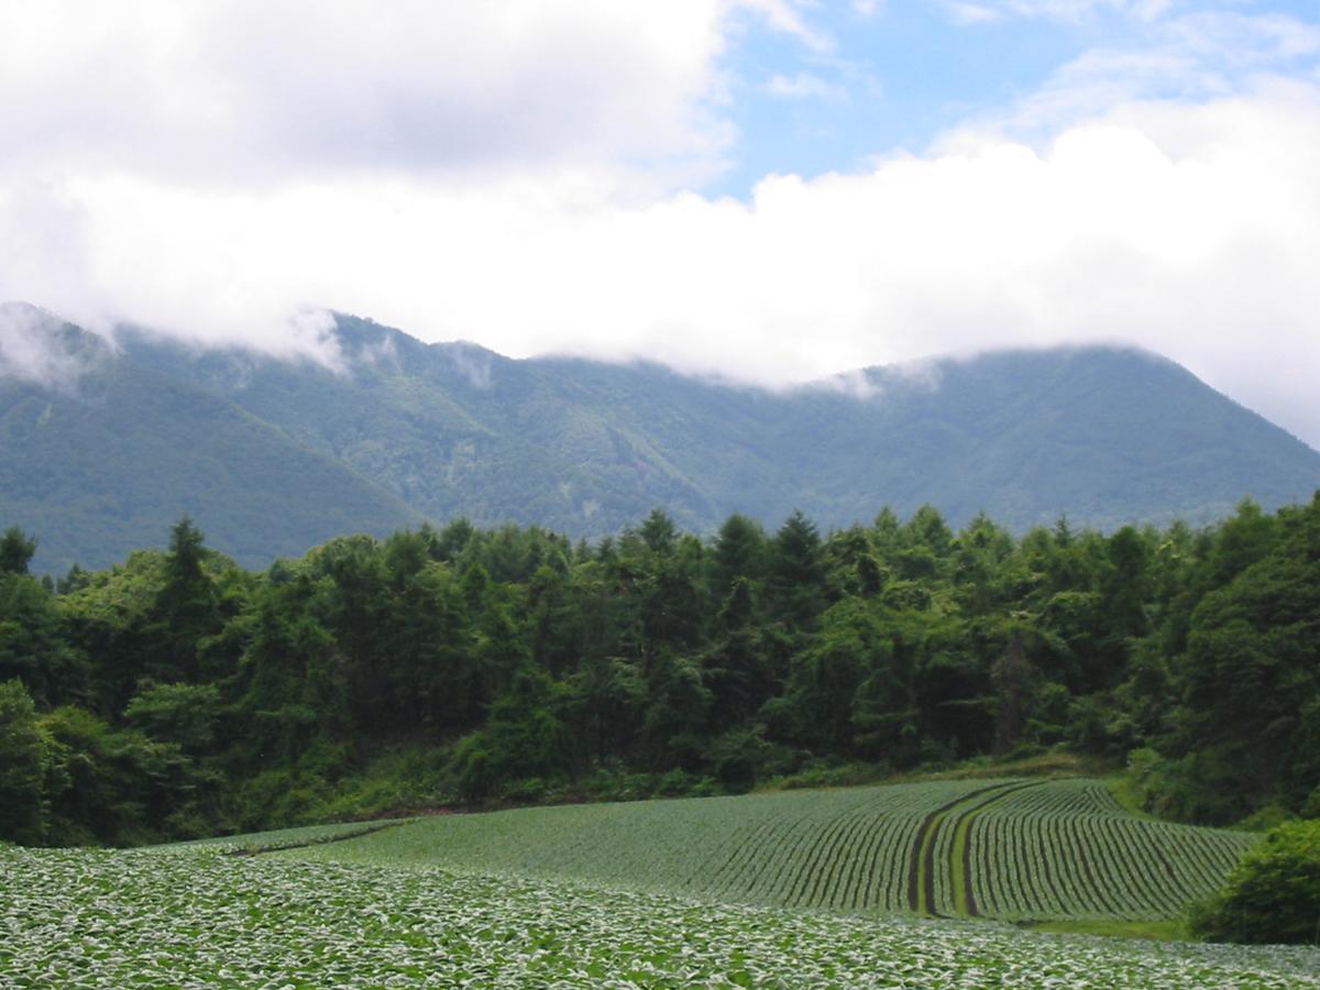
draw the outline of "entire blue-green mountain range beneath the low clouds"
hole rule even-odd
[[[457,515],[599,536],[656,506],[709,532],[734,511],[777,525],[801,508],[836,527],[929,503],[953,524],[986,511],[1022,531],[1067,513],[1107,529],[1320,487],[1320,453],[1130,348],[1001,351],[768,392],[655,364],[512,360],[346,315],[335,367],[128,329],[111,350],[48,323],[58,354],[94,359],[71,385],[0,367],[0,525],[37,535],[36,565],[53,570],[158,545],[183,511],[261,565]]]

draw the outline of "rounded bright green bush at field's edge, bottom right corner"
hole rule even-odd
[[[1191,928],[1214,941],[1320,945],[1320,820],[1271,829]]]

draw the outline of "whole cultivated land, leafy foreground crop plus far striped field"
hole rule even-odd
[[[0,986],[1320,986],[1315,948],[986,920],[1176,917],[1251,841],[975,780],[8,846]]]

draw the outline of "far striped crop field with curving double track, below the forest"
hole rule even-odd
[[[1176,917],[1254,837],[1135,818],[1094,780],[948,780],[424,818],[285,853],[850,912]]]

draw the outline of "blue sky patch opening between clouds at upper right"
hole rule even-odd
[[[865,170],[896,149],[920,153],[969,119],[995,117],[1093,53],[1168,51],[1171,28],[1213,18],[1320,24],[1320,3],[1125,4],[821,3],[799,9],[807,37],[744,15],[726,65],[738,137],[710,190],[744,197],[770,173]],[[1134,94],[1204,99],[1241,90],[1267,66],[1313,81],[1313,49],[1267,58],[1246,32],[1239,50],[1184,40],[1183,61]],[[1213,75],[1213,84],[1206,79]]]

